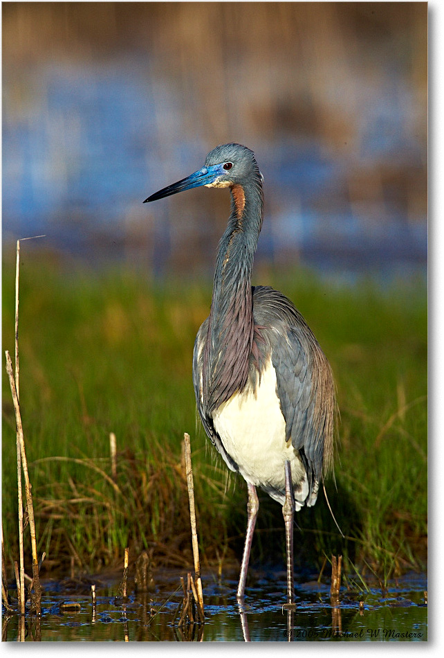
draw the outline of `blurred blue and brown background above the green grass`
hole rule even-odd
[[[228,193],[142,201],[237,141],[265,178],[258,267],[425,275],[427,3],[2,12],[3,251],[44,233],[91,265],[210,277]]]

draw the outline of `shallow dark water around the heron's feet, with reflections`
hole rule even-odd
[[[220,582],[203,574],[205,624],[178,627],[183,592],[180,576],[165,572],[151,593],[130,594],[127,603],[115,598],[116,580],[96,582],[93,615],[90,583],[42,582],[41,619],[28,616],[26,641],[426,641],[427,579],[411,573],[391,581],[385,592],[347,591],[332,606],[329,585],[295,583],[296,612],[282,610],[286,580],[283,571],[256,572],[247,588],[244,610],[236,601],[236,578]],[[91,580],[94,582],[94,580]],[[131,588],[130,588],[131,589]],[[362,603],[361,603],[362,602]],[[67,604],[75,604],[75,610]],[[3,616],[3,639],[19,639],[17,616]]]

